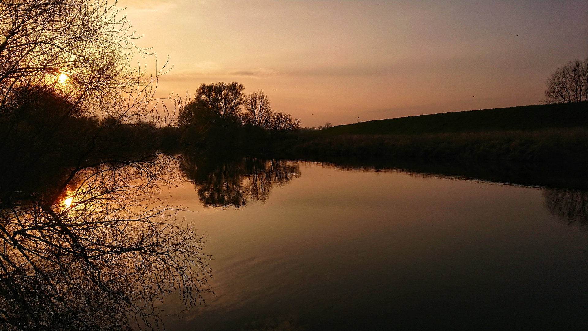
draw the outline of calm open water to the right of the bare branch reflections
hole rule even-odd
[[[208,236],[215,292],[168,330],[588,329],[586,193],[239,167],[162,194]]]

